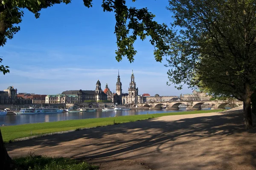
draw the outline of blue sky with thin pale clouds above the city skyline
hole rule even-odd
[[[41,11],[41,17],[24,10],[20,31],[4,47],[0,47],[3,65],[10,73],[0,74],[0,90],[8,86],[17,93],[60,94],[66,90],[95,90],[99,79],[104,90],[106,83],[116,91],[119,70],[123,93],[128,92],[131,72],[134,71],[139,94],[171,96],[192,93],[184,87],[178,91],[168,82],[165,57],[154,59],[154,47],[149,39],[137,40],[134,62],[127,58],[115,59],[115,18],[112,12],[103,12],[102,0],[93,0],[87,8],[82,0],[71,4],[57,4]],[[170,25],[172,13],[166,9],[168,0],[137,0],[128,6],[147,7],[156,15],[158,23]]]

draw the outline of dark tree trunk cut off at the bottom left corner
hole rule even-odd
[[[0,169],[1,170],[13,170],[12,159],[8,155],[3,143],[3,137],[0,130]]]

